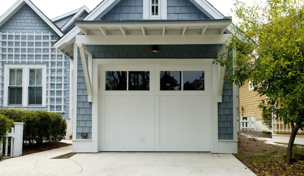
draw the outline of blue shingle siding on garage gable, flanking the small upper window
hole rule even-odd
[[[101,20],[142,20],[143,0],[121,0]],[[167,19],[209,19],[189,0],[168,0]]]

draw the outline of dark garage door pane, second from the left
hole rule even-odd
[[[150,90],[150,72],[129,72],[129,90]]]

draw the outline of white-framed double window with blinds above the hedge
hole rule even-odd
[[[4,106],[45,107],[46,66],[5,65]]]

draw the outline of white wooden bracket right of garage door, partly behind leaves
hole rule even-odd
[[[221,57],[223,60],[226,60],[228,57],[228,46],[223,45],[219,51],[217,52],[217,56]],[[226,66],[220,66],[218,64],[218,78],[219,78],[219,84],[218,84],[218,102],[222,102],[222,95],[223,95],[223,88],[224,88],[224,77],[225,77],[225,71],[226,71]]]

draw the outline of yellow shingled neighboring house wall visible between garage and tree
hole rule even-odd
[[[266,96],[259,96],[257,92],[254,92],[254,87],[252,86],[250,80],[245,81],[244,86],[240,88],[240,116],[241,118],[256,117],[256,129],[257,131],[270,130],[268,127],[262,124],[262,111],[259,108],[261,100]],[[243,119],[245,120],[245,119]]]

